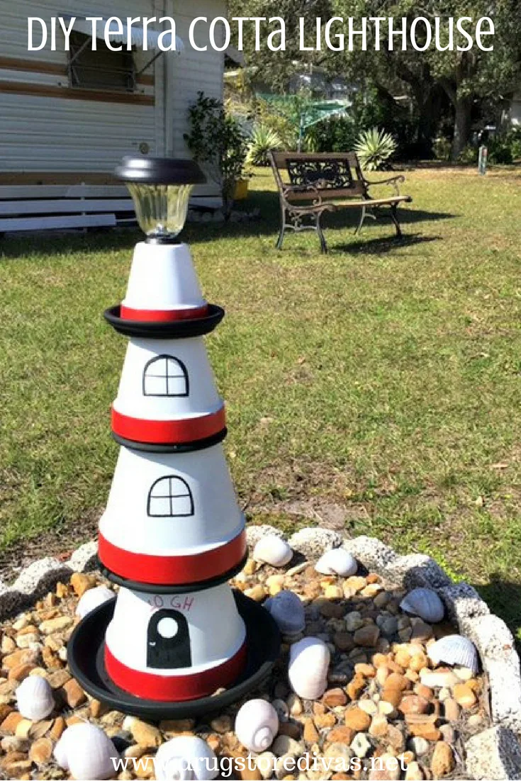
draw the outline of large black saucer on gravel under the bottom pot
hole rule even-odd
[[[104,652],[115,599],[95,608],[74,629],[67,646],[70,670],[92,697],[142,719],[192,719],[227,708],[266,681],[280,654],[280,633],[269,612],[241,591],[234,591],[234,597],[246,626],[247,660],[241,677],[222,694],[185,702],[157,702],[133,697],[112,683],[105,670]]]

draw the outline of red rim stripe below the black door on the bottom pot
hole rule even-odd
[[[208,697],[220,686],[230,686],[241,675],[246,664],[246,644],[243,643],[234,656],[203,672],[191,675],[156,676],[123,665],[105,645],[105,669],[120,689],[147,700],[182,702]]]

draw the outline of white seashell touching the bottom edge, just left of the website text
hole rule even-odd
[[[116,776],[120,758],[112,740],[88,722],[67,727],[55,746],[54,755],[59,766],[77,781],[102,781]]]

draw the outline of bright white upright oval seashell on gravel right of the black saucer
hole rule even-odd
[[[329,648],[317,637],[305,637],[290,648],[288,675],[291,688],[299,697],[316,700],[327,687]]]

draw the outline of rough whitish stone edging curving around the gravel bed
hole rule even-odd
[[[273,526],[249,526],[252,547],[267,534],[282,537]],[[389,587],[423,586],[437,591],[449,619],[476,644],[487,674],[492,726],[466,743],[466,769],[472,779],[521,779],[521,673],[514,639],[505,622],[492,615],[487,604],[468,583],[454,583],[433,558],[423,554],[400,556],[374,537],[343,538],[337,532],[309,527],[294,533],[288,543],[306,558],[316,558],[332,547],[343,546],[358,561],[376,572]],[[66,562],[41,558],[6,586],[0,582],[0,620],[23,611],[73,572],[98,565],[95,540],[81,545]]]

